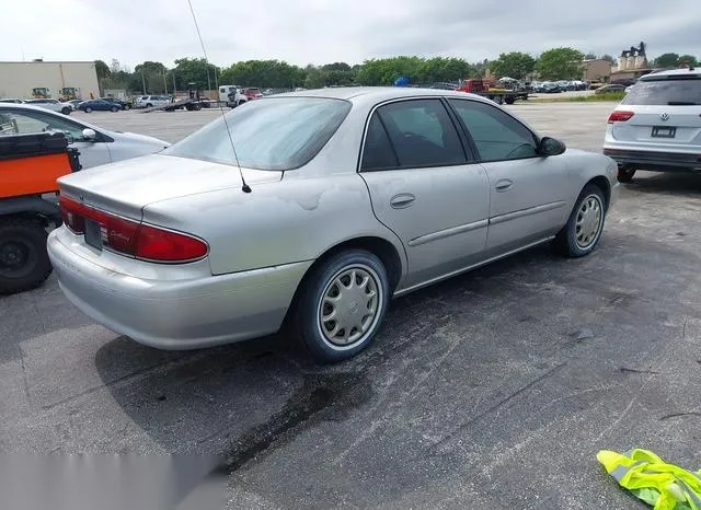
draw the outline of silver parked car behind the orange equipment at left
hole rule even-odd
[[[170,143],[133,132],[117,132],[27,104],[0,104],[2,135],[64,131],[80,152],[83,169],[163,150]]]

